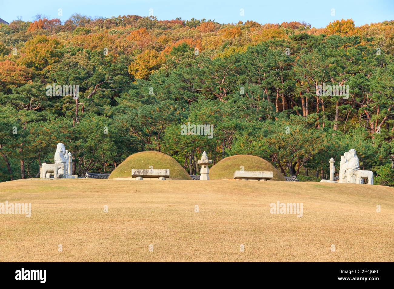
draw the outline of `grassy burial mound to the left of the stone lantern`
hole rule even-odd
[[[132,169],[169,169],[170,179],[191,180],[184,168],[171,156],[158,151],[142,151],[126,158],[116,169],[109,179],[131,178]]]

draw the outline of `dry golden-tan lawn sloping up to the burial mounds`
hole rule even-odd
[[[0,261],[394,261],[384,186],[27,179],[0,183],[5,201],[32,216],[0,215]],[[303,216],[270,214],[277,201]]]

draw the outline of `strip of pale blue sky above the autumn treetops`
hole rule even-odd
[[[58,16],[62,9],[62,16]],[[91,17],[118,15],[148,16],[158,19],[215,19],[219,23],[254,20],[259,23],[305,21],[321,28],[336,19],[352,18],[356,26],[394,19],[394,0],[0,0],[0,18],[11,22],[18,16],[32,21],[37,13],[67,20],[73,13]],[[244,9],[241,16],[240,9]],[[331,15],[335,9],[335,16]]]

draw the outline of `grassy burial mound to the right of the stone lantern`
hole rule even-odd
[[[272,171],[273,178],[271,180],[286,181],[283,175],[269,162],[252,155],[235,155],[223,158],[223,160],[209,169],[209,179],[232,179],[234,172],[239,171],[241,166],[243,166],[245,171]]]

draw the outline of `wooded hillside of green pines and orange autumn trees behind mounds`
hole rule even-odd
[[[144,150],[198,174],[206,151],[214,162],[257,155],[303,180],[354,148],[375,183],[393,185],[393,53],[394,21],[0,24],[0,181],[38,176],[63,142],[78,175]],[[214,125],[213,137],[181,134],[188,123]]]

